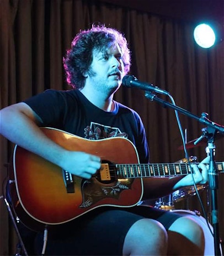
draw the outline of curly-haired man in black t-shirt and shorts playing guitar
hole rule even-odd
[[[113,100],[130,69],[124,36],[103,25],[74,38],[63,60],[71,91],[47,90],[1,111],[1,133],[63,170],[90,179],[101,166],[99,156],[67,150],[39,127],[52,127],[86,139],[125,137],[134,143],[140,163],[148,163],[145,129],[138,114]],[[124,149],[125,150],[125,149]],[[207,181],[204,164],[193,166],[196,183]],[[31,171],[31,170],[30,170]],[[160,197],[182,186],[185,177],[143,180],[144,197]],[[41,253],[42,234],[36,238]],[[49,232],[46,255],[202,255],[204,234],[187,216],[151,207],[97,207],[71,221],[70,228]]]

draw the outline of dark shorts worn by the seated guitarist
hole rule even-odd
[[[99,207],[71,221],[57,232],[49,231],[45,255],[122,255],[124,239],[132,224],[152,218],[168,229],[182,215],[149,206]],[[43,235],[35,239],[40,255]]]

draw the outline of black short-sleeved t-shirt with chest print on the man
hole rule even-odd
[[[148,144],[141,118],[119,102],[114,101],[113,112],[106,112],[79,90],[46,90],[24,102],[42,119],[42,127],[61,129],[92,140],[125,137],[134,143],[140,163],[148,163]]]

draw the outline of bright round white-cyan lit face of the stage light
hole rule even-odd
[[[215,44],[216,34],[210,25],[202,23],[194,29],[194,39],[202,48],[210,48]]]

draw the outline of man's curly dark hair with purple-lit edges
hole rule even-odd
[[[63,65],[66,71],[68,85],[82,89],[85,77],[93,60],[93,50],[105,51],[108,46],[118,43],[122,52],[125,74],[131,66],[130,50],[127,40],[118,30],[107,28],[105,25],[93,25],[91,29],[82,30],[72,41],[70,50],[67,50]]]

